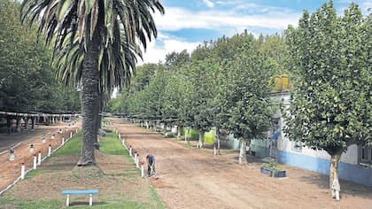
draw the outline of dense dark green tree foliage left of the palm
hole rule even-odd
[[[37,29],[19,22],[18,2],[1,0],[0,108],[9,112],[76,112],[74,88],[63,89],[50,69],[51,50],[35,42]],[[68,97],[74,99],[68,99]]]

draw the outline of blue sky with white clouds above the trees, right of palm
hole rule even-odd
[[[288,25],[297,26],[304,10],[314,12],[327,0],[159,0],[165,14],[154,13],[158,37],[148,43],[143,63],[164,62],[166,55],[196,49],[204,41],[216,40],[222,35],[244,32],[282,34]],[[339,15],[350,0],[334,0]],[[354,0],[364,14],[372,8],[372,0]]]

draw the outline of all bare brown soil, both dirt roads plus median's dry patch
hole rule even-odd
[[[182,140],[165,139],[158,133],[123,120],[112,119],[112,122],[126,139],[127,146],[131,145],[139,153],[140,159],[144,160],[148,153],[154,154],[159,179],[150,178],[149,182],[167,208],[372,209],[372,188],[341,181],[342,197],[337,202],[330,197],[326,175],[283,165],[288,177],[272,178],[260,173],[260,159],[249,159],[248,164],[238,165],[237,151],[221,150],[221,155],[214,156],[212,146],[196,149],[196,142],[191,142],[192,147],[188,147]],[[65,130],[62,135],[56,134],[58,128],[65,126],[57,124],[39,127],[27,134],[0,135],[0,148],[4,151],[20,143],[15,149],[15,161],[9,161],[8,152],[0,155],[0,189],[3,190],[19,177],[22,162],[26,162],[26,169],[31,168],[33,154],[29,153],[29,143],[34,143],[35,152],[40,150],[45,156],[49,144],[55,149],[62,135],[68,135]],[[71,129],[79,126],[76,124]],[[41,143],[43,135],[48,132],[47,143]],[[53,133],[56,139],[50,140]],[[148,182],[130,177],[138,174],[134,165],[122,157],[107,156],[99,151],[96,152],[96,158],[98,169],[81,169],[76,166],[79,156],[53,157],[53,160],[46,160],[40,166],[44,174],[18,182],[14,190],[5,192],[5,196],[45,200],[61,198],[61,190],[86,189],[95,185],[102,199],[128,197],[146,202],[151,198],[149,192],[143,192],[148,190]],[[87,199],[74,201],[73,204],[86,205],[86,202]],[[96,204],[105,205],[105,202]]]

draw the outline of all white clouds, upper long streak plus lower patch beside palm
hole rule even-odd
[[[213,2],[203,0],[204,4],[212,8]],[[158,39],[148,44],[147,51],[143,54],[143,63],[158,63],[164,61],[166,55],[172,51],[188,50],[191,52],[199,43],[187,42],[176,37],[164,35],[166,31],[181,29],[209,29],[217,34],[234,35],[242,33],[244,29],[257,33],[260,29],[283,30],[289,24],[296,26],[302,12],[292,12],[285,8],[265,7],[258,4],[242,3],[240,0],[215,1],[216,5],[232,6],[226,11],[211,9],[208,11],[193,12],[186,8],[167,7],[166,14],[154,14],[156,26],[159,30]],[[252,30],[251,30],[252,29]],[[163,32],[163,33],[162,33]],[[204,40],[201,40],[202,42]]]

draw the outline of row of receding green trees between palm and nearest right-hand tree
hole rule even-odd
[[[256,38],[244,31],[205,42],[191,54],[172,52],[165,63],[139,66],[109,110],[197,129],[201,147],[210,128],[227,130],[243,148],[272,126],[274,77],[290,73],[286,48],[283,35]]]

